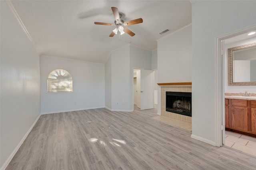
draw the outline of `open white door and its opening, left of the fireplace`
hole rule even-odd
[[[141,110],[154,108],[154,72],[139,70],[137,72],[137,107]]]

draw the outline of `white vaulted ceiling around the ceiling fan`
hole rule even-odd
[[[188,0],[11,0],[34,41],[39,55],[106,63],[110,51],[126,44],[157,48],[157,39],[192,22]],[[136,35],[109,37],[115,26],[111,7],[118,8],[124,21],[142,18],[127,26]],[[170,29],[167,33],[159,33]]]

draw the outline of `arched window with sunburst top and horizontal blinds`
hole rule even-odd
[[[53,70],[47,79],[48,93],[72,92],[72,76],[62,69]]]

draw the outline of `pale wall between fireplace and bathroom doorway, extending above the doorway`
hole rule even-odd
[[[192,135],[215,142],[216,37],[255,24],[256,1],[192,3]],[[159,56],[158,56],[159,57]],[[159,68],[159,67],[158,67]]]

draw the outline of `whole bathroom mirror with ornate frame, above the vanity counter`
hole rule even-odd
[[[228,86],[256,85],[256,43],[228,49]]]

